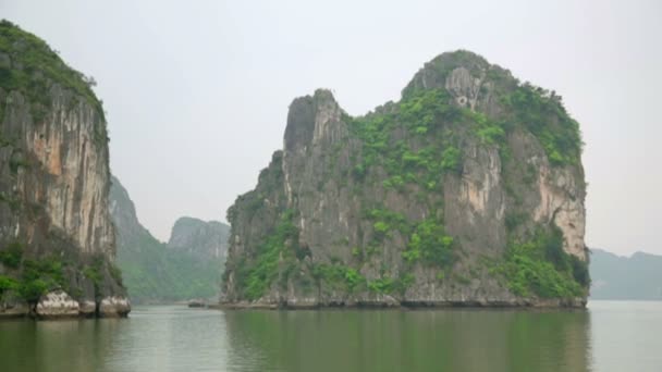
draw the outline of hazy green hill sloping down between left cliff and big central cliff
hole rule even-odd
[[[118,265],[132,302],[173,302],[218,296],[224,256],[210,256],[216,250],[209,251],[210,247],[222,246],[218,236],[197,234],[197,228],[188,230],[191,226],[184,223],[181,230],[175,224],[174,238],[171,238],[171,243],[184,244],[184,248],[173,249],[159,241],[143,227],[128,193],[115,177],[110,187],[110,211],[117,231]],[[199,221],[189,218],[181,221],[188,220]]]

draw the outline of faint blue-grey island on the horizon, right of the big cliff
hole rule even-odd
[[[591,299],[662,300],[662,256],[591,249]]]

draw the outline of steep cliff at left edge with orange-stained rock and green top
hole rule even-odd
[[[91,80],[0,22],[0,315],[125,315]]]

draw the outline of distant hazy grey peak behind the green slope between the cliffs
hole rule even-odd
[[[168,246],[203,259],[225,261],[230,226],[222,222],[180,218],[172,227]]]

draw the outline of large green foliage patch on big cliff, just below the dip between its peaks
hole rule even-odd
[[[363,179],[381,165],[389,175],[387,188],[419,184],[433,189],[444,172],[457,172],[462,152],[444,123],[461,120],[462,111],[450,100],[445,90],[418,90],[388,109],[352,119],[351,129],[364,144],[353,174]],[[425,145],[414,148],[413,142]]]

